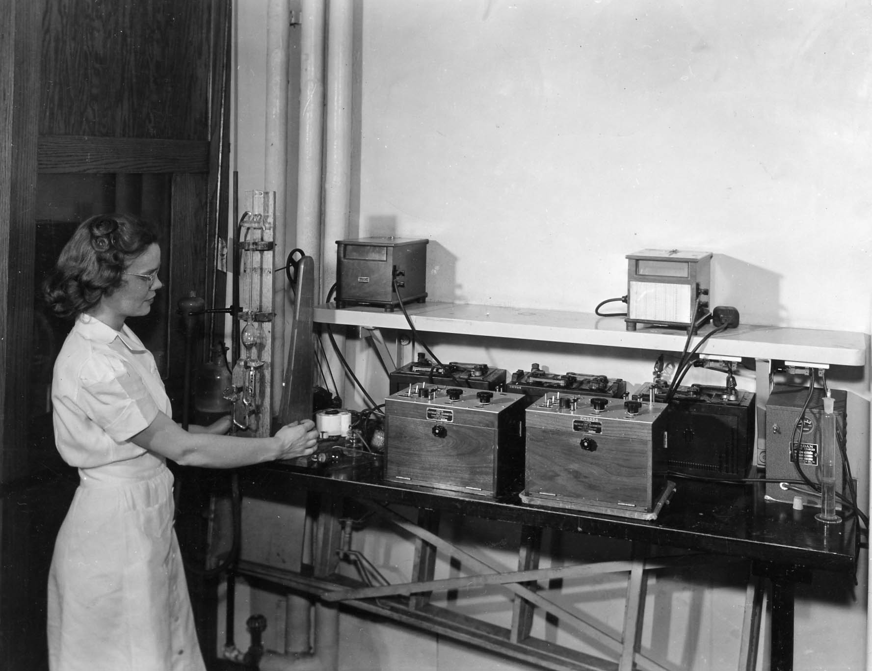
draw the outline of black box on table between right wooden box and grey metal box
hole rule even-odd
[[[732,379],[732,375],[728,378]],[[632,398],[663,403],[664,380],[646,382]],[[716,385],[679,386],[666,411],[668,467],[687,476],[739,480],[754,468],[756,394]]]

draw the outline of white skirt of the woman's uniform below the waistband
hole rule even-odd
[[[205,671],[173,528],[173,474],[153,455],[97,469],[58,532],[51,671]]]

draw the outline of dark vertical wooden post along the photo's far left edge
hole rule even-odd
[[[0,3],[0,483],[29,476],[34,256],[39,105],[40,0]],[[0,668],[42,668],[46,554],[58,528],[44,502],[4,496],[0,503]],[[51,521],[51,524],[47,524]],[[51,543],[49,543],[50,545]]]

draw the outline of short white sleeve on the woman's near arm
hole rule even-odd
[[[145,381],[123,359],[92,359],[81,372],[81,383],[78,406],[116,442],[129,441],[158,415]]]

